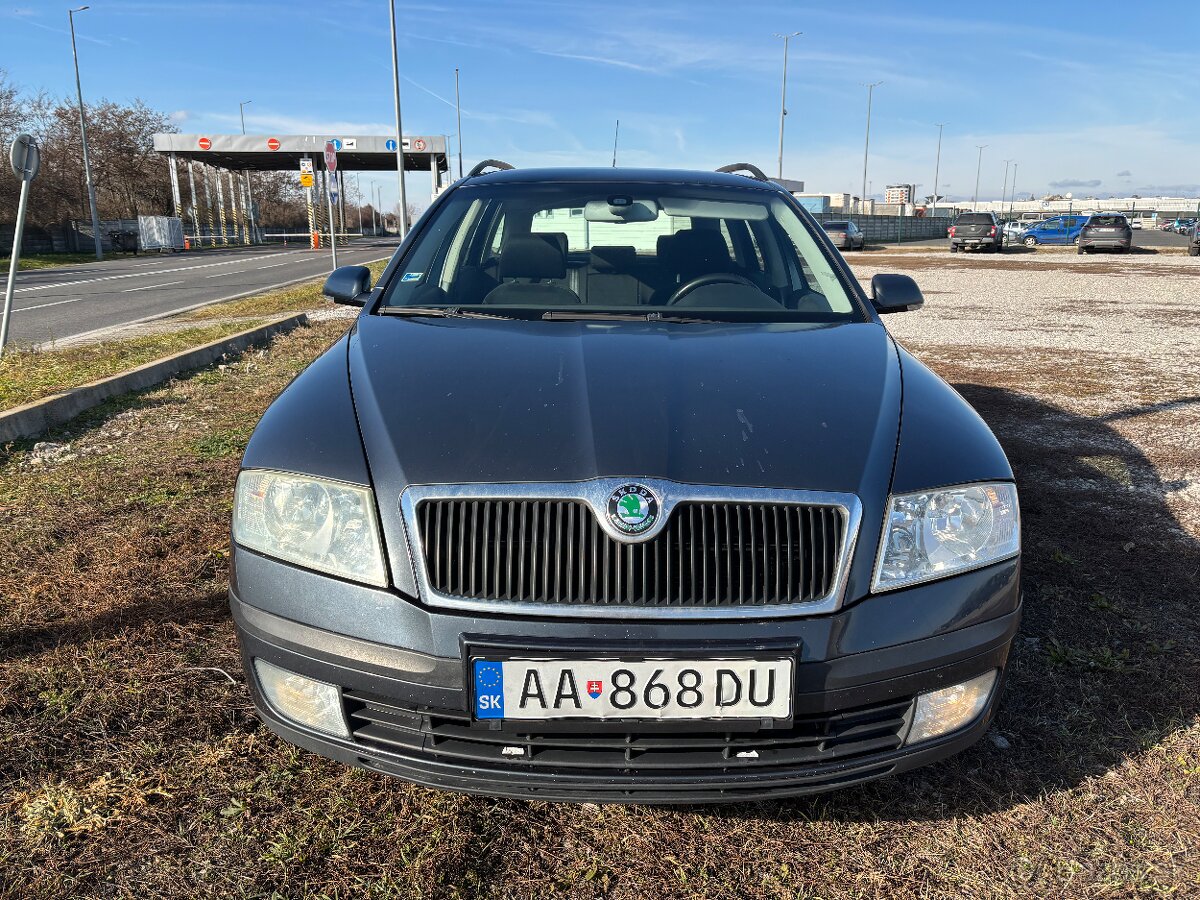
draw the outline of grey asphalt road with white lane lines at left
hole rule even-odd
[[[395,248],[395,240],[358,240],[338,247],[337,262],[365,264]],[[10,341],[29,346],[90,335],[316,278],[329,269],[328,250],[239,247],[23,271],[13,292]]]

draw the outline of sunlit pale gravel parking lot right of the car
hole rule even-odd
[[[853,263],[864,287],[884,271],[917,280],[924,310],[888,328],[943,376],[974,372],[1111,420],[1200,538],[1200,258],[882,252]]]

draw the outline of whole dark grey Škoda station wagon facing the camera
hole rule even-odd
[[[503,170],[481,174],[485,168]],[[988,727],[1013,473],[821,227],[751,173],[442,194],[242,461],[230,602],[263,720],[437,787],[828,790]]]

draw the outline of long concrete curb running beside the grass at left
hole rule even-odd
[[[0,412],[0,443],[41,434],[55,425],[70,421],[86,409],[100,406],[109,397],[152,388],[180,372],[200,368],[215,362],[227,353],[239,353],[268,337],[307,324],[308,317],[305,313],[284,316],[275,322],[268,322],[265,325],[247,331],[239,331],[236,335],[222,337],[202,347],[193,347],[173,356],[146,362],[128,372],[101,378],[70,391],[54,394],[32,403]]]

